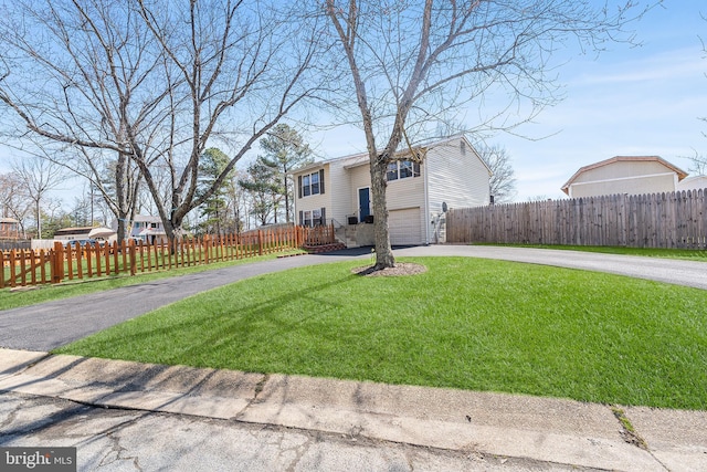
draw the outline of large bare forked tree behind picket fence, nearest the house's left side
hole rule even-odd
[[[170,119],[163,143],[141,147],[135,140],[131,148],[172,238],[186,214],[221,188],[257,139],[326,82],[323,71],[314,69],[320,34],[314,24],[292,21],[296,4],[285,10],[276,1],[176,3],[170,9],[139,4],[168,61]],[[199,158],[210,140],[222,140],[233,153],[211,187],[197,192]],[[170,169],[166,203],[158,199],[150,156]]]

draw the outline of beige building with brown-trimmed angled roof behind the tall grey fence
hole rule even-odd
[[[579,169],[562,186],[570,198],[671,192],[687,172],[658,156],[616,156]]]

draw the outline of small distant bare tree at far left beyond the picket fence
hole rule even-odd
[[[32,200],[36,237],[42,238],[42,202],[64,180],[63,167],[40,157],[24,157],[12,164],[25,195]]]

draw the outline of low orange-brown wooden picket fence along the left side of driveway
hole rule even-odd
[[[330,244],[334,228],[287,227],[245,234],[207,235],[171,244],[135,241],[0,252],[0,289],[171,270]]]

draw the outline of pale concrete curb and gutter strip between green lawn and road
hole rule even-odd
[[[0,349],[0,391],[549,464],[707,470],[707,412]],[[627,431],[618,415],[634,428]]]

